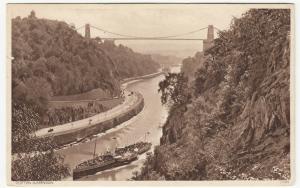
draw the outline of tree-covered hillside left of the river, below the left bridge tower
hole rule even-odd
[[[118,95],[121,79],[158,69],[150,56],[86,39],[65,22],[38,19],[34,12],[12,19],[12,57],[13,100],[38,106],[50,96],[95,88]]]

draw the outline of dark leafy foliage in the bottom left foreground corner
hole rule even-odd
[[[52,139],[37,139],[31,133],[38,128],[38,114],[34,107],[13,103],[12,111],[12,160],[13,181],[55,181],[69,175],[61,156],[52,152],[56,147]],[[36,151],[36,153],[32,153]],[[40,151],[48,151],[42,153]],[[30,153],[34,156],[22,157]],[[19,158],[21,156],[21,158]]]

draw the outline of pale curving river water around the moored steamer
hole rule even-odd
[[[179,67],[174,67],[173,71],[178,71]],[[152,150],[159,144],[162,136],[161,127],[165,123],[168,112],[165,106],[160,102],[158,93],[158,83],[164,79],[164,75],[154,78],[140,80],[127,85],[127,90],[137,91],[144,97],[145,106],[143,110],[129,121],[117,126],[106,133],[99,134],[97,138],[85,143],[73,145],[66,149],[59,150],[58,153],[64,156],[65,163],[71,169],[81,161],[91,159],[95,142],[96,153],[104,153],[115,147],[122,147],[133,144],[137,141],[147,141],[152,143]],[[139,156],[137,161],[129,165],[98,172],[95,175],[83,177],[80,181],[93,180],[127,180],[132,177],[134,171],[139,171],[145,161],[145,154]],[[71,178],[68,178],[71,179]]]

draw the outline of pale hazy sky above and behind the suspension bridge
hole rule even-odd
[[[253,6],[253,5],[250,5]],[[12,18],[25,17],[31,10],[38,18],[74,23],[80,27],[86,23],[126,35],[156,37],[186,33],[209,24],[219,29],[229,28],[231,19],[240,17],[249,5],[201,5],[201,4],[27,4],[10,5]],[[84,29],[79,30],[83,33]],[[116,37],[91,29],[91,35]],[[206,38],[207,30],[186,35],[184,38]],[[216,36],[216,34],[215,34]],[[201,41],[117,41],[143,53],[173,54],[180,57],[193,56],[202,50]]]

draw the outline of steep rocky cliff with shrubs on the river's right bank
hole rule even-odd
[[[220,33],[138,179],[290,179],[289,17],[250,10]]]

